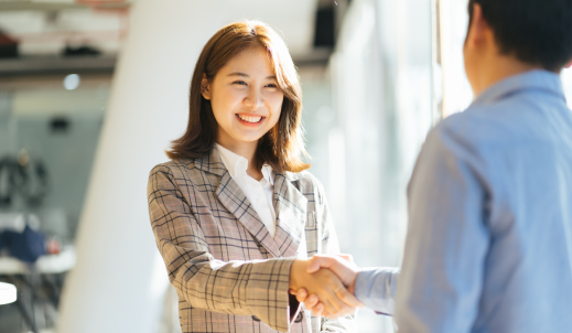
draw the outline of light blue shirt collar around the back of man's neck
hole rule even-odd
[[[543,90],[557,95],[565,100],[560,76],[552,72],[535,69],[510,76],[494,84],[473,101],[473,106],[492,104],[507,95],[529,89]]]

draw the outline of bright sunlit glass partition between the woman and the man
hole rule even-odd
[[[406,187],[433,107],[430,1],[352,1],[331,60],[335,126],[328,198],[342,251],[358,266],[399,266]],[[359,332],[393,332],[391,318],[358,314]]]

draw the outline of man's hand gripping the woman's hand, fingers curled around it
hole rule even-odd
[[[327,268],[332,270],[347,288],[347,291],[354,294],[355,282],[359,268],[354,264],[350,255],[315,255],[307,265],[307,272],[315,272],[320,269]],[[305,290],[304,288],[298,289],[298,292],[292,292],[296,296],[299,302],[303,302],[307,310],[311,310],[315,316],[324,315],[332,318],[330,310],[325,307],[322,298],[312,291]],[[363,308],[364,304],[358,301],[358,308]]]

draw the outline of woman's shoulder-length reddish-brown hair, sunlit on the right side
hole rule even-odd
[[[201,94],[203,74],[213,82],[218,71],[241,51],[262,47],[274,69],[279,88],[284,94],[278,123],[258,141],[255,163],[265,163],[279,172],[300,172],[310,168],[302,141],[302,89],[294,63],[282,39],[267,24],[244,21],[220,29],[206,43],[191,82],[188,125],[184,136],[166,151],[170,159],[196,159],[211,152],[216,142],[218,125],[211,101]]]

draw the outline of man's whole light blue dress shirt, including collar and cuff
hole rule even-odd
[[[360,272],[367,307],[403,333],[572,332],[572,112],[557,74],[507,78],[439,123],[408,200],[401,272]]]

